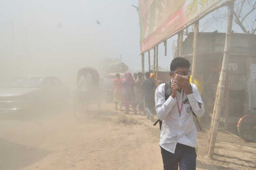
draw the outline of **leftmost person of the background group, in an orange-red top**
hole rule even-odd
[[[123,105],[123,80],[120,78],[120,74],[116,74],[116,78],[113,80],[114,84],[114,103],[115,109],[118,109],[118,105],[120,106],[120,110],[122,110]]]

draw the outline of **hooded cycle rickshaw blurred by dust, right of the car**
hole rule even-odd
[[[94,68],[81,68],[77,73],[77,88],[74,91],[73,113],[76,119],[88,114],[89,104],[98,103],[101,109],[99,73]]]

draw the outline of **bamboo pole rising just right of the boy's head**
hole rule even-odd
[[[199,32],[199,21],[195,22],[194,42],[193,42],[194,51],[193,51],[193,60],[192,60],[192,80],[191,80],[191,83],[194,83],[194,80],[195,80],[198,32]]]

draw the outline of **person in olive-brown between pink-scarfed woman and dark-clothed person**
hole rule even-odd
[[[136,86],[135,86],[136,101],[138,104],[139,114],[141,114],[141,111],[144,111],[144,93],[143,93],[143,89],[141,88],[141,85],[142,85],[141,72],[138,72],[138,77],[135,82],[136,82]]]

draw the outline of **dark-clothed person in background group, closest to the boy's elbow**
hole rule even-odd
[[[146,118],[154,121],[155,114],[155,81],[150,79],[150,73],[145,73],[146,79],[142,82],[142,89],[144,91],[144,109]]]

